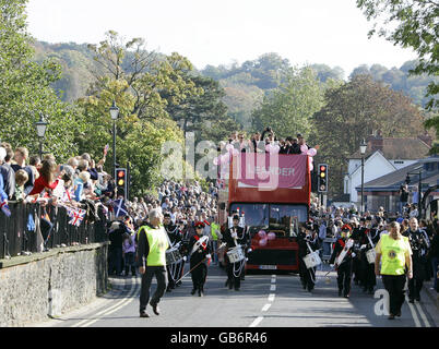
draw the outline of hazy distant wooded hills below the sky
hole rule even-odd
[[[93,52],[86,44],[34,44],[36,60],[43,61],[56,58],[62,67],[62,79],[57,81],[54,88],[64,101],[74,101],[86,94],[86,89],[94,81],[93,71],[103,73],[102,68],[93,60]],[[189,58],[190,59],[190,58]],[[425,106],[426,86],[431,82],[430,76],[410,76],[408,71],[416,65],[416,61],[407,61],[400,68],[388,69],[380,64],[357,67],[345,76],[340,67],[331,68],[327,64],[311,64],[321,82],[333,80],[348,80],[357,74],[370,74],[373,80],[389,84],[395,91],[402,91],[419,106]],[[220,82],[225,89],[224,103],[228,113],[244,129],[250,129],[251,111],[257,107],[263,95],[276,88],[282,83],[282,72],[292,64],[277,53],[265,53],[252,61],[242,64],[206,65],[199,72]],[[127,68],[129,69],[129,68]],[[437,82],[439,79],[436,77]]]

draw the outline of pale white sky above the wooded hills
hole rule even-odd
[[[48,43],[97,44],[109,29],[178,52],[198,69],[277,52],[292,64],[400,68],[416,55],[375,36],[355,0],[28,0],[28,32]]]

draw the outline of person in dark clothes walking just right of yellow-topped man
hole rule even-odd
[[[420,301],[420,290],[426,279],[427,252],[430,241],[427,233],[419,229],[415,217],[411,218],[410,228],[403,233],[408,238],[413,251],[413,278],[408,280],[408,302]]]

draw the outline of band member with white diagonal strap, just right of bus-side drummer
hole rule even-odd
[[[351,238],[351,231],[352,228],[349,225],[344,225],[342,227],[342,236],[334,243],[334,250],[330,258],[330,264],[335,263],[335,269],[337,272],[336,280],[339,284],[339,296],[343,294],[344,298],[349,298],[352,264],[353,256],[355,256],[354,252],[352,251],[352,246],[346,245]],[[343,252],[343,250],[345,250],[345,256],[342,261],[339,261],[339,256]]]

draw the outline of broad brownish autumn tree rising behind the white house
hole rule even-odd
[[[324,159],[331,166],[332,193],[343,191],[346,157],[358,149],[363,139],[378,130],[389,137],[423,133],[419,108],[370,75],[356,75],[340,87],[329,88],[324,98],[324,107],[312,117],[312,139],[320,145],[317,160]]]

